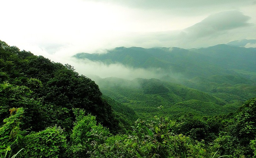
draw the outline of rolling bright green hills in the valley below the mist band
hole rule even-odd
[[[161,105],[166,115],[177,119],[186,113],[196,117],[230,113],[236,111],[242,103],[238,99],[242,98],[234,97],[235,95],[229,97],[221,93],[222,95],[215,96],[213,93],[158,79],[137,78],[130,81],[115,77],[98,77],[95,82],[104,95],[130,107],[142,119],[163,115],[162,111],[157,110]],[[254,88],[256,89],[255,86]]]

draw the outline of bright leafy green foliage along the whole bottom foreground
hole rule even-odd
[[[166,116],[155,116],[151,121],[138,119],[130,135],[110,134],[107,128],[97,124],[94,116],[78,108],[73,109],[76,121],[71,135],[65,135],[56,126],[28,133],[19,127],[25,117],[23,108],[9,111],[10,116],[0,127],[1,157],[19,152],[18,157],[213,158],[225,155],[249,158],[256,153],[256,98],[248,100],[236,115],[226,119],[172,121]],[[212,124],[218,121],[221,122]]]

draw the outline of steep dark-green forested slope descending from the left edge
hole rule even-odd
[[[39,131],[57,124],[69,133],[75,117],[73,108],[79,108],[96,116],[113,132],[119,129],[98,85],[78,75],[68,64],[55,63],[0,41],[0,76],[1,121],[10,114],[10,108],[23,107],[24,129]]]

